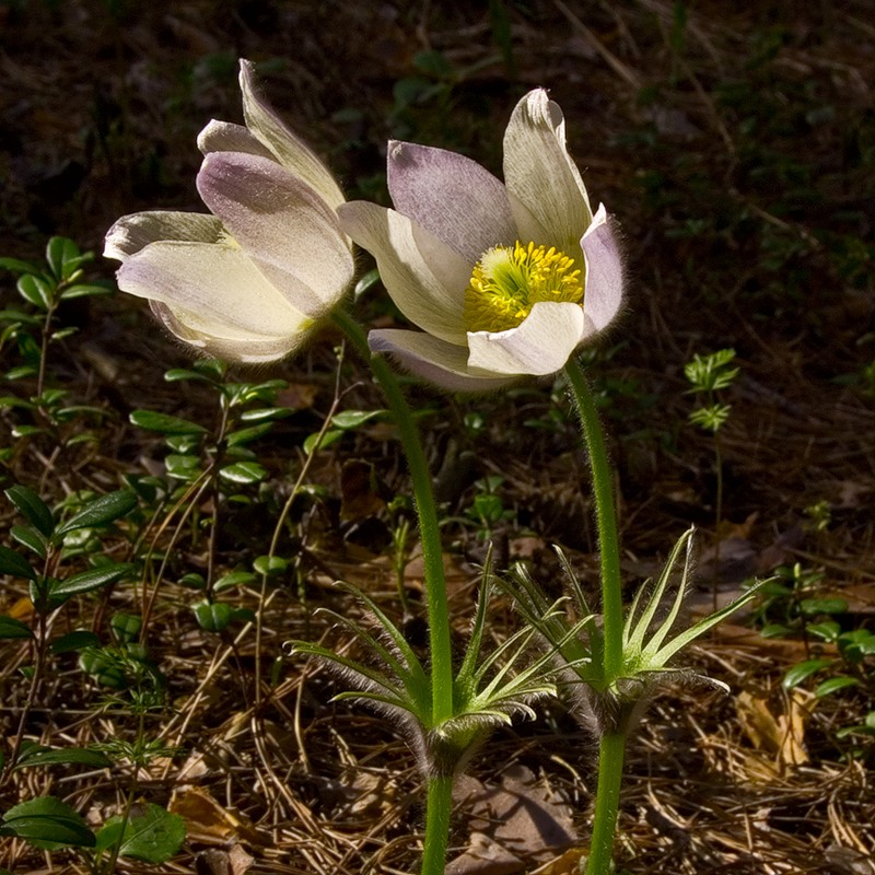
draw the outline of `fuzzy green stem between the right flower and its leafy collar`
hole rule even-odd
[[[602,553],[602,614],[605,637],[603,678],[606,686],[609,687],[622,675],[623,627],[620,545],[614,510],[614,482],[595,399],[580,364],[573,359],[570,359],[565,365],[565,376],[571,384],[571,392],[581,418],[583,439],[590,453],[590,466],[593,470],[598,549]]]

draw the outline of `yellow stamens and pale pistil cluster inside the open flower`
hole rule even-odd
[[[574,259],[555,246],[493,246],[474,266],[465,290],[465,327],[469,331],[515,328],[541,301],[583,302],[583,283]]]

